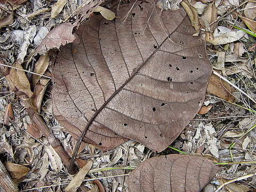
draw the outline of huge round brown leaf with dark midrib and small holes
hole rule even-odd
[[[119,6],[92,17],[60,50],[53,113],[77,139],[110,149],[125,138],[164,150],[201,108],[212,66],[183,9]],[[121,136],[120,136],[121,135]]]

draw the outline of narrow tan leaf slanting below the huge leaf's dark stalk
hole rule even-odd
[[[93,161],[89,161],[85,166],[83,166],[83,168],[76,174],[76,176],[70,181],[68,186],[65,188],[66,192],[76,192],[77,188],[81,186],[85,175],[91,170],[92,163]]]

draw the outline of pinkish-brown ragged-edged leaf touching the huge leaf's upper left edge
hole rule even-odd
[[[74,27],[71,22],[67,22],[52,29],[37,47],[37,52],[45,54],[50,49],[58,49],[61,45],[73,42],[76,38],[72,33]]]

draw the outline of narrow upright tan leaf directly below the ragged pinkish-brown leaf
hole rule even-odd
[[[48,68],[49,63],[50,63],[49,54],[47,53],[45,55],[41,55],[35,64],[34,73],[43,75],[46,69]],[[39,75],[33,75],[32,87],[34,87],[37,84],[40,78],[41,76]]]

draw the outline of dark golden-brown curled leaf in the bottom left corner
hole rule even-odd
[[[9,172],[14,183],[20,183],[28,174],[30,169],[24,165],[14,164],[12,162],[3,163],[6,170]]]

